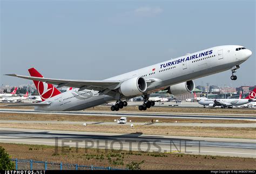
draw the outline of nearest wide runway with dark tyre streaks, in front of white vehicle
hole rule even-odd
[[[242,138],[0,128],[0,142],[256,158],[256,140]]]

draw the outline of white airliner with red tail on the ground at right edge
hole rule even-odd
[[[240,106],[247,103],[253,102],[255,99],[256,88],[251,91],[245,99],[202,99],[198,103],[200,105],[216,107],[220,106],[222,108],[231,107],[231,106]]]

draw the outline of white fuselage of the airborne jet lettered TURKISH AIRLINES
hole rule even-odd
[[[223,72],[233,66],[242,64],[251,54],[248,55],[246,50],[236,51],[237,47],[242,46],[225,45],[212,47],[105,80],[125,81],[133,76],[140,76],[145,80],[153,80],[154,82],[147,86],[147,90],[144,93],[150,94],[181,82]],[[124,98],[130,99],[134,97],[136,95]],[[35,110],[83,110],[115,100],[117,100],[115,95],[105,95],[93,90],[67,91],[44,101],[51,102],[49,106],[36,106]]]

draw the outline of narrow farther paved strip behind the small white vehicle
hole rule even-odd
[[[37,111],[29,109],[0,109],[0,113],[26,113],[26,114],[60,114],[60,115],[95,115],[95,116],[115,116],[115,117],[150,117],[150,118],[165,118],[165,119],[217,119],[217,120],[248,120],[256,121],[255,114],[235,114],[237,116],[228,115],[195,115],[188,114],[169,114],[169,113],[141,113],[141,112],[51,112],[51,111]],[[245,116],[242,116],[245,115]]]

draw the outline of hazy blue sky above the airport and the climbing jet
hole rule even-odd
[[[1,74],[102,80],[218,45],[253,55],[196,85],[255,85],[255,1],[1,1]]]

